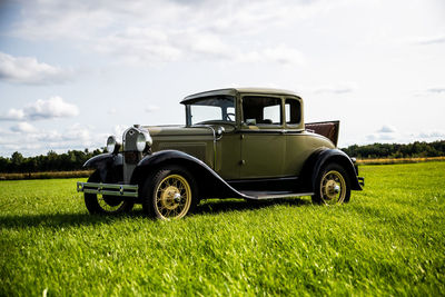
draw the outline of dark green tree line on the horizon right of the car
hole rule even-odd
[[[434,142],[415,141],[408,145],[354,145],[342,150],[348,156],[356,157],[357,159],[443,157],[445,156],[445,140]]]

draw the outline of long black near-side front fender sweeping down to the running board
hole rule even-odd
[[[181,166],[195,177],[199,198],[247,198],[228,185],[218,174],[201,160],[179,150],[161,150],[146,156],[136,166],[130,184],[141,189],[147,178],[168,165]]]

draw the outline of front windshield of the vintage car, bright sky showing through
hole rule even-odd
[[[214,121],[235,122],[234,97],[206,97],[187,105],[187,125],[209,123]]]

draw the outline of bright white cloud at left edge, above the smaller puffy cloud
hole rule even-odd
[[[71,71],[37,61],[32,57],[12,57],[0,52],[0,79],[11,82],[46,85],[63,82]]]

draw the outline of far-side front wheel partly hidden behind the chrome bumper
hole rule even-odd
[[[88,178],[88,182],[103,182],[100,178],[98,170],[92,172]],[[116,181],[107,181],[116,182]],[[102,196],[97,194],[86,192],[85,205],[87,209],[92,215],[119,215],[131,211],[135,201],[128,198],[121,198],[117,196]]]

